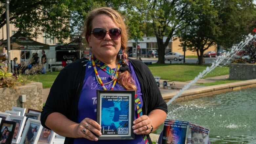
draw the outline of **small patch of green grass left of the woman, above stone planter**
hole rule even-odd
[[[28,75],[27,78],[31,81],[41,82],[43,84],[43,89],[45,89],[52,87],[58,74],[59,71],[54,71],[53,73],[47,72],[46,74]]]

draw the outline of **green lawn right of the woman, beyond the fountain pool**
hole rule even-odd
[[[203,72],[210,65],[193,64],[153,64],[149,65],[150,71],[154,76],[160,76],[161,79],[168,81],[189,81],[193,80],[199,72]],[[229,73],[228,67],[217,67],[205,77],[214,77]]]

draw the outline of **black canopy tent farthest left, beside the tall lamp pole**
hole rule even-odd
[[[11,50],[24,50],[25,63],[26,63],[26,50],[49,50],[49,55],[50,55],[49,45],[34,41],[26,37],[20,31],[16,32],[10,37],[10,43],[11,43]],[[7,40],[4,40],[0,47],[7,47]],[[13,52],[12,52],[12,59],[13,59]]]

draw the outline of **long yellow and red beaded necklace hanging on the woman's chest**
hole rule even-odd
[[[94,72],[95,72],[95,75],[97,77],[97,81],[98,83],[102,86],[102,88],[106,91],[107,89],[105,88],[103,82],[101,81],[100,77],[99,77],[99,74],[97,72],[97,69],[96,69],[96,65],[95,65],[95,62],[94,62],[94,57],[93,57],[93,54],[92,54],[92,64],[93,64],[93,69],[94,69]],[[117,72],[116,72],[116,75],[115,75],[115,79],[114,79],[114,83],[113,83],[113,86],[111,87],[111,91],[113,91],[115,85],[116,85],[116,82],[117,82],[117,76],[119,74],[119,68],[120,68],[120,61],[118,61],[117,63]],[[112,80],[113,81],[113,80]],[[111,81],[111,82],[112,82]],[[110,82],[109,82],[110,83]]]

